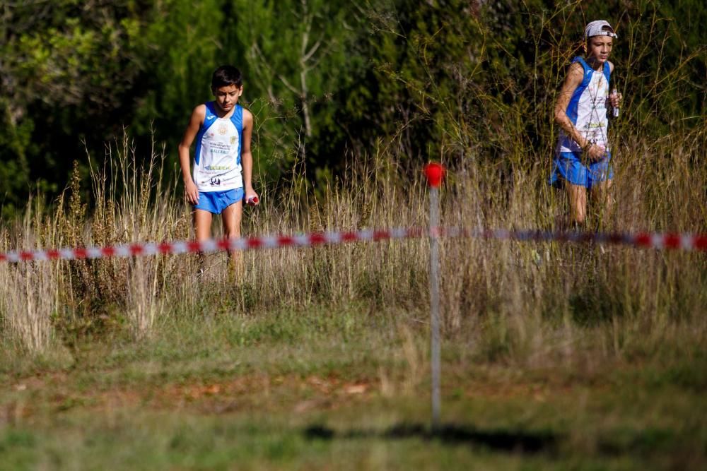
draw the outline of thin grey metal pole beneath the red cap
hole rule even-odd
[[[430,188],[430,314],[432,357],[432,430],[440,425],[440,267],[439,267],[439,189]]]

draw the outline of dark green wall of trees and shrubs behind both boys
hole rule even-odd
[[[0,5],[0,205],[54,193],[125,126],[176,156],[211,72],[235,64],[259,168],[312,176],[378,145],[409,160],[515,162],[554,143],[551,107],[588,20],[617,27],[624,126],[706,114],[698,0],[31,0]],[[153,136],[152,136],[153,135]],[[528,148],[527,145],[521,146]],[[176,158],[175,158],[176,162]]]

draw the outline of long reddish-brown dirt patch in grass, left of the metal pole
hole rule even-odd
[[[223,381],[188,381],[162,386],[119,386],[106,390],[78,390],[68,374],[23,378],[10,386],[0,420],[34,415],[39,410],[57,413],[76,408],[117,410],[147,407],[153,410],[190,410],[202,414],[223,414],[239,410],[282,410],[295,412],[331,409],[351,400],[363,400],[375,393],[368,381],[341,381],[329,376],[246,375]]]

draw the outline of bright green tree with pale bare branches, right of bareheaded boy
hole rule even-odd
[[[354,48],[360,11],[327,0],[235,0],[233,8],[241,13],[234,39],[244,52],[247,97],[255,97],[262,121],[264,167],[277,174],[296,160],[332,165],[331,137],[345,138],[334,97],[363,66]]]

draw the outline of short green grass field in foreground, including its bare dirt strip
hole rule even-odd
[[[443,345],[430,428],[426,311],[365,305],[170,323],[0,371],[2,469],[700,469],[707,353],[548,345],[490,361]],[[577,340],[600,342],[601,329]],[[7,352],[7,350],[5,350]]]

